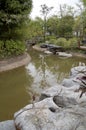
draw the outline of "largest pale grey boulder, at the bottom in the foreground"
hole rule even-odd
[[[85,130],[85,115],[86,108],[78,105],[61,108],[52,98],[47,98],[36,103],[33,109],[31,105],[26,106],[14,118],[19,130]]]

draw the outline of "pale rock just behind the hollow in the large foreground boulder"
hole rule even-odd
[[[75,98],[75,100],[77,101],[80,95],[80,92],[75,92],[75,90],[78,88],[79,86],[76,86],[76,85],[70,88],[64,87],[62,85],[57,85],[47,90],[44,90],[41,93],[40,100],[45,99],[46,97],[54,97],[54,96],[59,95],[59,96],[64,96],[64,97]]]

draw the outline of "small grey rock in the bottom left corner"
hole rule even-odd
[[[14,121],[8,120],[0,122],[0,130],[16,130]]]

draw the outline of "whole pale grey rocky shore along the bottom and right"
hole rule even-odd
[[[86,66],[71,69],[70,77],[41,93],[39,102],[0,123],[0,130],[86,130]]]

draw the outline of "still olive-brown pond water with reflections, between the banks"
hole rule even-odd
[[[27,66],[0,73],[0,121],[12,119],[16,111],[31,103],[32,93],[38,97],[45,88],[67,78],[72,67],[86,64],[86,59],[79,57],[61,58],[34,50],[29,54],[32,60]]]

